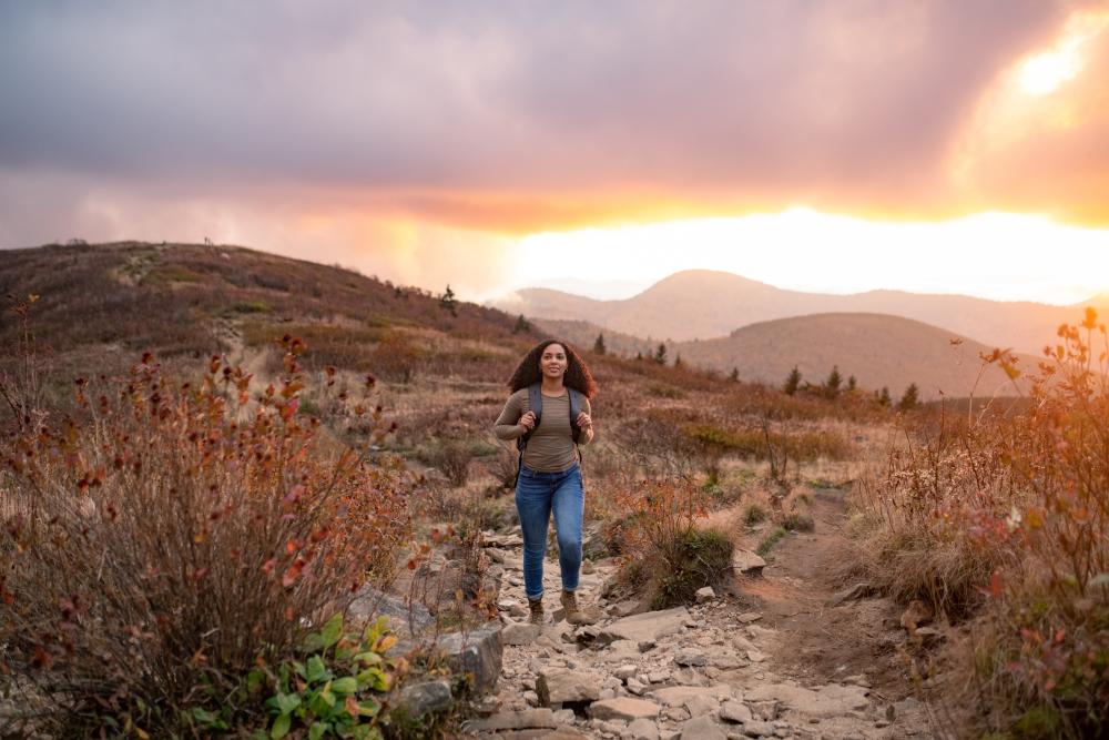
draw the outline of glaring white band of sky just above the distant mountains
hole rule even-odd
[[[643,290],[683,270],[719,270],[813,293],[901,290],[1059,305],[1109,290],[1109,230],[997,212],[903,223],[794,207],[548,232],[521,239],[511,251],[511,290],[559,280]]]

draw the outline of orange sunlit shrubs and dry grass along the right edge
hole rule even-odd
[[[1008,353],[984,361],[1021,375]],[[974,724],[1109,731],[1109,342],[1092,310],[1045,347],[1022,410],[948,420],[869,493],[887,588],[971,618]]]

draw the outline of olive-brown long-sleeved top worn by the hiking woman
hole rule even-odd
[[[497,417],[494,427],[498,439],[516,439],[526,429],[520,425],[520,417],[531,410],[528,401],[528,389],[520,388],[508,397],[505,409]],[[591,414],[589,398],[581,397],[581,410]],[[596,435],[593,435],[596,436]],[[592,437],[581,435],[579,444],[588,444]],[[559,473],[573,466],[578,456],[573,448],[573,434],[570,428],[570,393],[563,391],[561,396],[543,396],[543,410],[539,418],[528,446],[523,450],[523,464],[532,470]]]

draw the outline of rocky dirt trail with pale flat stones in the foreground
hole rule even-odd
[[[580,601],[602,616],[583,627],[552,614],[560,581],[550,559],[547,622],[527,624],[519,538],[502,538],[488,550],[505,568],[502,671],[464,737],[937,737],[925,706],[909,696],[896,606],[857,594],[840,594],[830,606],[836,594],[827,574],[845,544],[843,493],[814,491],[812,510],[815,530],[782,539],[761,576],[737,575],[688,608],[635,614],[634,602],[603,596],[613,561],[587,567]],[[742,544],[753,547],[759,537]]]

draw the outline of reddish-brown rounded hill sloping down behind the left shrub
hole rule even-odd
[[[4,252],[0,292],[38,294],[34,331],[57,369],[125,366],[140,352],[163,357],[261,348],[283,334],[311,341],[314,364],[378,372],[503,374],[513,333],[499,311],[442,301],[342,267],[235,246],[125,242]],[[11,342],[9,317],[0,337]],[[450,352],[426,348],[449,335]],[[105,352],[106,349],[106,352]]]

